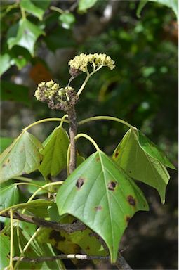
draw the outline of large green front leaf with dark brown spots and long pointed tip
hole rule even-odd
[[[147,201],[135,183],[101,151],[93,153],[68,176],[57,194],[59,214],[72,214],[98,233],[117,259],[128,220]]]

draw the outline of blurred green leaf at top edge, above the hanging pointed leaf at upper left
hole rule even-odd
[[[44,10],[34,5],[34,3],[30,0],[21,0],[20,6],[25,9],[28,13],[32,13],[32,15],[42,20],[44,15]]]

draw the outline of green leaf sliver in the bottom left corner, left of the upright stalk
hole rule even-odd
[[[10,237],[0,234],[0,269],[5,269],[9,264]]]

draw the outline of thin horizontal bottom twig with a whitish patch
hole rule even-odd
[[[19,257],[13,257],[13,261],[18,261]],[[47,261],[54,261],[55,259],[110,259],[110,256],[89,256],[84,254],[60,254],[55,255],[52,257],[39,257],[39,258],[28,258],[28,257],[21,257],[20,262],[32,262],[37,264],[39,262],[47,262]]]

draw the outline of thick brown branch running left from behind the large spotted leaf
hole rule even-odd
[[[10,217],[8,212],[1,214],[2,217]],[[28,216],[27,214],[20,214],[19,212],[13,212],[13,219],[18,219],[26,221],[37,226],[43,226],[46,228],[51,228],[55,231],[66,231],[67,233],[73,233],[74,231],[84,231],[86,226],[80,221],[74,222],[73,224],[59,224],[58,222],[47,221],[44,219],[39,219],[38,217]]]

